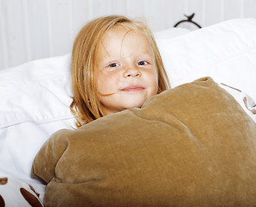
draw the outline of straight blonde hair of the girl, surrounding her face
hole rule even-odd
[[[147,37],[157,66],[158,93],[170,88],[170,82],[164,70],[157,43],[144,22],[133,21],[125,16],[104,16],[94,19],[80,29],[74,40],[71,65],[74,97],[70,104],[70,110],[76,118],[77,127],[103,116],[97,98],[95,60],[99,42],[103,35],[116,26],[138,31]]]

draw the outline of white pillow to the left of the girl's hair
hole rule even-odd
[[[0,176],[30,178],[32,161],[58,129],[71,129],[70,54],[0,71]]]

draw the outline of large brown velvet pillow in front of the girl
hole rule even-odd
[[[33,170],[46,206],[256,206],[256,124],[200,78],[58,131]]]

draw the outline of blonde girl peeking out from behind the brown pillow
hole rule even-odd
[[[80,127],[99,117],[141,107],[170,88],[157,43],[144,22],[99,17],[81,28],[72,54],[70,109]]]

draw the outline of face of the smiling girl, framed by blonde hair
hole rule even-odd
[[[157,67],[144,34],[122,26],[104,34],[97,53],[98,98],[104,116],[141,107],[157,94]]]

